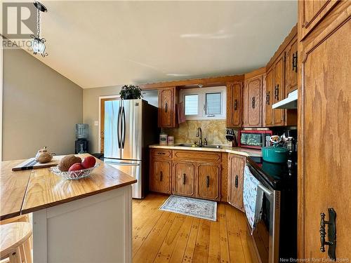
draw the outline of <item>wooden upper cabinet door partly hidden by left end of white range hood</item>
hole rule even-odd
[[[284,89],[284,53],[274,65],[273,104],[285,98]],[[273,109],[274,126],[284,126],[284,109]]]

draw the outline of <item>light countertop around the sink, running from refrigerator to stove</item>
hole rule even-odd
[[[208,144],[211,145],[211,144]],[[222,146],[222,148],[205,148],[205,147],[184,147],[179,146],[179,144],[171,145],[159,145],[152,144],[149,146],[150,148],[159,148],[159,149],[173,149],[173,150],[185,150],[185,151],[219,151],[219,152],[227,152],[229,154],[239,154],[242,156],[253,156],[253,157],[261,157],[262,151],[256,149],[248,149],[242,147],[228,147]]]

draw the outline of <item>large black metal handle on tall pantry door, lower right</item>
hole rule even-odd
[[[323,212],[321,213],[321,227],[319,234],[321,236],[321,251],[325,252],[324,245],[328,245],[328,255],[334,261],[336,260],[336,212],[333,208],[328,208],[329,221],[324,220],[326,216]],[[326,241],[326,224],[328,224],[328,238]]]

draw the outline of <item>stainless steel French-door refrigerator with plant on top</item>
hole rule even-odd
[[[157,142],[157,107],[145,100],[105,101],[104,161],[135,177],[133,198],[148,185],[148,146]]]

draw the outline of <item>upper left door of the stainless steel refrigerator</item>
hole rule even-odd
[[[121,158],[121,100],[105,101],[104,118],[104,156],[105,158]]]

